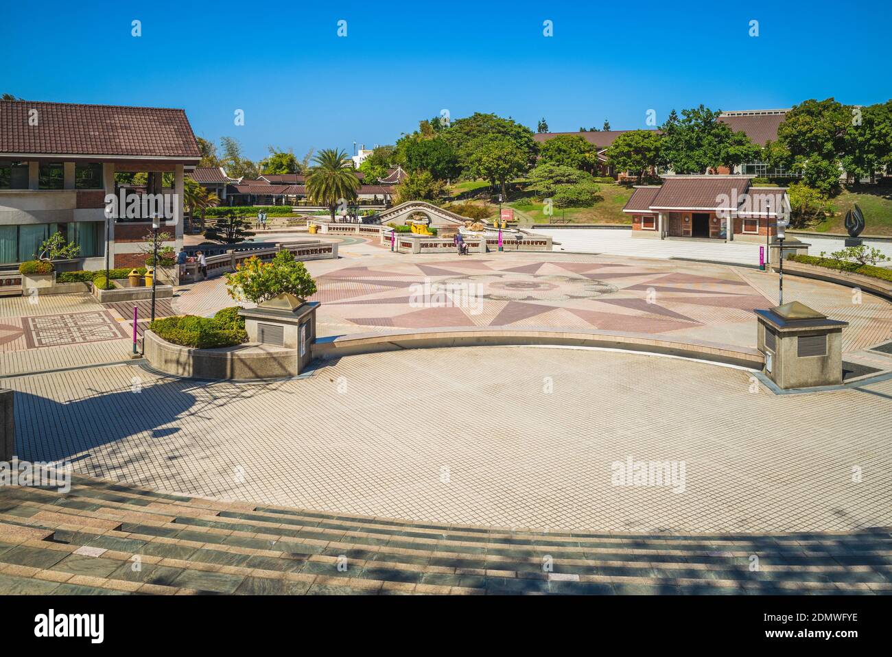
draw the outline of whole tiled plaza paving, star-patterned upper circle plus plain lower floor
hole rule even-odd
[[[307,263],[320,335],[547,327],[752,348],[753,309],[777,303],[777,276],[751,267],[411,256],[339,241],[340,259]],[[850,323],[848,363],[892,371],[892,356],[871,349],[892,339],[892,305],[793,276],[785,292]],[[215,278],[156,310],[208,316],[232,303]],[[137,306],[142,333],[148,309]],[[344,357],[287,382],[193,382],[129,360],[132,307],[88,294],[0,300],[0,377],[19,392],[19,456],[192,496],[415,521],[693,532],[892,524],[890,379],[775,396],[731,367],[491,347]],[[617,485],[623,463],[683,467],[683,485]]]

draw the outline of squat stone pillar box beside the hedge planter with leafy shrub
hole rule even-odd
[[[318,301],[301,301],[293,294],[279,294],[263,301],[257,308],[240,308],[248,341],[296,349],[298,371],[310,365],[312,345],[316,340]]]

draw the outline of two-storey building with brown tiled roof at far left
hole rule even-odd
[[[55,233],[79,247],[60,269],[103,268],[106,242],[111,267],[141,266],[156,211],[164,245],[180,247],[183,180],[200,159],[182,110],[0,101],[0,267],[37,258]]]

